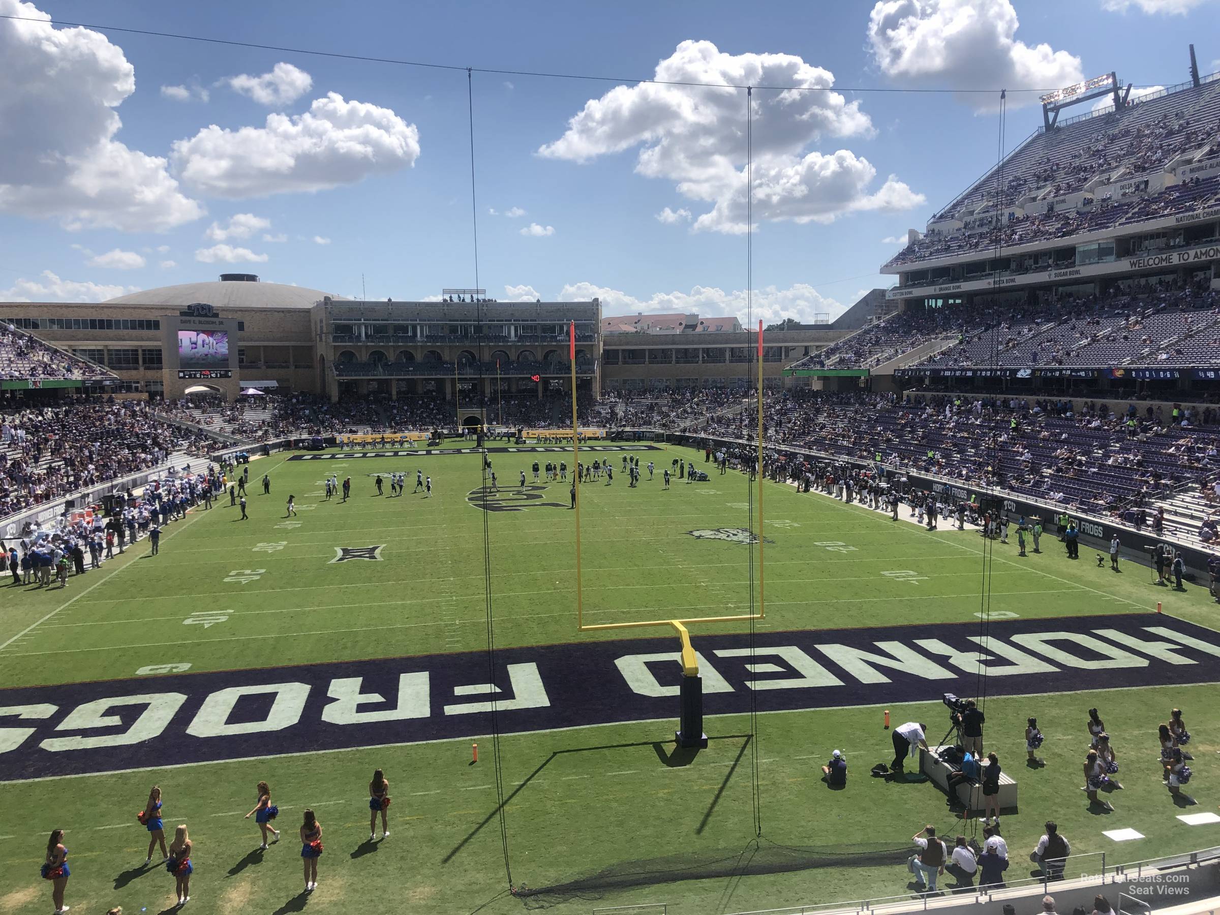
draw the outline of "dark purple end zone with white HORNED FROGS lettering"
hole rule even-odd
[[[1157,614],[694,633],[706,715],[1220,681],[1220,633]],[[986,645],[983,647],[983,642]],[[0,691],[0,781],[678,715],[675,638]],[[709,722],[714,732],[716,725]]]

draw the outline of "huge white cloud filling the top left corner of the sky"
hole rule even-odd
[[[122,49],[55,28],[33,4],[0,0],[0,13],[18,17],[0,20],[0,211],[132,232],[203,216],[166,160],[115,139],[116,109],[135,90]]]

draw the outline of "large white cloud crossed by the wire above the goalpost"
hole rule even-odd
[[[876,170],[848,150],[808,146],[825,137],[871,137],[858,101],[832,92],[834,76],[788,54],[725,54],[711,41],[683,41],[656,65],[666,83],[797,87],[753,96],[756,220],[830,222],[861,209],[902,209],[922,201],[897,179],[875,194]],[[816,92],[814,92],[816,90]],[[538,150],[548,159],[587,162],[639,146],[636,172],[676,182],[688,200],[711,204],[694,228],[747,229],[745,94],[739,89],[640,83],[590,99],[567,131]]]

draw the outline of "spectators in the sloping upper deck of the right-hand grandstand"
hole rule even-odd
[[[1207,209],[1220,201],[1220,178],[1193,177],[1164,189],[1149,176],[1220,152],[1220,84],[1210,83],[1142,101],[1119,112],[1086,118],[1031,138],[1004,162],[997,205],[996,174],[971,185],[932,223],[960,221],[960,228],[928,233],[899,251],[891,265],[987,251],[1039,239],[1131,224]],[[1092,182],[1092,185],[1091,185]],[[1080,205],[1057,205],[1087,187],[1122,183],[1118,196],[1083,194]],[[1024,207],[1014,218],[1000,215]],[[999,223],[999,224],[997,224]]]

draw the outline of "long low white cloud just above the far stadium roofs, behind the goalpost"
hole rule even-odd
[[[745,323],[745,292],[726,292],[716,287],[697,285],[691,292],[653,293],[647,299],[628,295],[619,289],[610,289],[594,283],[569,283],[559,294],[559,301],[601,300],[601,314],[634,315],[637,312],[698,312],[700,317],[725,317],[736,315]],[[787,289],[773,285],[755,289],[753,295],[754,321],[775,323],[786,317],[797,321],[813,321],[815,315],[842,314],[845,306],[837,300],[821,295],[811,285],[797,283]]]

